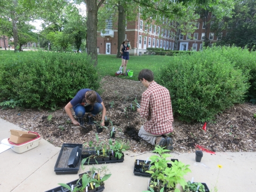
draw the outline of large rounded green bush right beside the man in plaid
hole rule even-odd
[[[242,102],[249,87],[247,80],[246,73],[234,68],[218,47],[172,57],[156,77],[170,91],[174,114],[199,122]]]

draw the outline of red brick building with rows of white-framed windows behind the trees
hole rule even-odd
[[[209,14],[209,20],[211,19],[211,14]],[[117,54],[119,53],[119,48],[117,47],[117,29],[113,29],[112,20],[107,20],[107,26],[105,34],[98,33],[97,38],[97,52],[100,54]],[[212,23],[211,23],[212,24]],[[176,22],[171,21],[167,25],[173,25],[175,28]],[[210,24],[208,24],[210,26]],[[166,30],[160,26],[154,25],[154,23],[147,28],[147,33],[145,33],[145,23],[139,18],[137,21],[127,22],[125,38],[131,41],[132,50],[129,51],[130,55],[141,55],[146,53],[147,47],[157,47],[163,48],[164,50],[174,49],[174,30]],[[206,35],[210,40],[210,45],[217,41],[217,36],[211,31],[210,27],[207,29],[207,34],[205,34],[205,25],[202,19],[198,19],[196,25],[197,29],[193,34],[180,35],[177,42],[177,50],[188,51],[195,50],[199,51],[202,49],[204,42],[204,37]],[[162,33],[162,37],[159,34]],[[219,37],[220,38],[220,37]]]

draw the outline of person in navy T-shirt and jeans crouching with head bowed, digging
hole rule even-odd
[[[78,121],[74,118],[71,108],[74,109]],[[105,105],[96,91],[82,89],[77,92],[76,96],[65,106],[66,113],[74,125],[84,125],[83,116],[87,114],[87,124],[93,124],[93,117],[102,111],[101,126],[105,126],[104,117],[106,115]]]

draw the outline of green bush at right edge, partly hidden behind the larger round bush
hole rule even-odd
[[[246,93],[248,101],[256,102],[256,52],[240,47],[223,47],[222,54],[234,63],[235,67],[249,73],[250,87]]]

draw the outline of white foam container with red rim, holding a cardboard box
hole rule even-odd
[[[20,144],[15,144],[11,141],[9,141],[11,149],[16,152],[16,153],[24,153],[30,149],[34,149],[35,147],[37,147],[39,145],[39,140],[40,140],[40,135],[37,135],[37,138],[29,140],[27,142],[24,143],[20,143]]]

